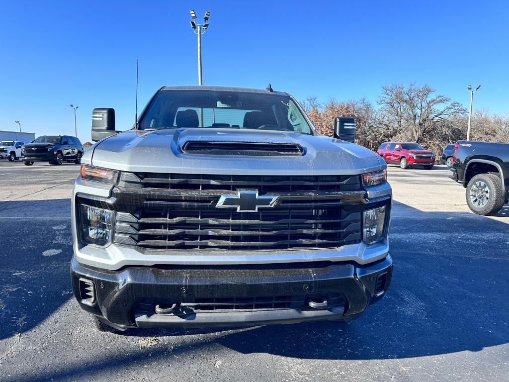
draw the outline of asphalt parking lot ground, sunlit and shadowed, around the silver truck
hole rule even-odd
[[[349,323],[92,330],[71,294],[79,166],[0,160],[0,380],[509,379],[509,207],[471,213],[445,166],[391,166],[392,284]]]

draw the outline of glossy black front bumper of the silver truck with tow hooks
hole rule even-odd
[[[280,267],[273,264],[272,268],[240,269],[227,266],[189,269],[127,267],[108,271],[84,266],[73,258],[71,277],[74,295],[84,310],[119,329],[127,329],[349,320],[385,294],[392,276],[392,259],[389,255],[365,266],[354,263],[324,264],[286,264]],[[93,301],[83,298],[89,296],[83,295],[83,280],[93,284]],[[275,296],[292,297],[303,301],[304,305],[288,309],[274,306],[270,309],[195,311],[189,308],[189,304],[207,299],[231,301],[235,298],[239,301],[250,298],[253,301],[253,298],[258,298],[261,301],[265,298],[265,301],[270,301]],[[328,301],[327,306],[313,309],[307,305],[308,301],[316,299]],[[155,309],[157,304],[177,304],[180,310],[159,314]]]

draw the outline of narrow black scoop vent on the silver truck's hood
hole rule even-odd
[[[302,146],[296,143],[188,141],[182,145],[185,154],[248,155],[248,156],[300,156]]]

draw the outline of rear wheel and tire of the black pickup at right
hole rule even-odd
[[[497,175],[477,174],[467,185],[467,204],[473,213],[494,215],[505,203],[502,182]]]

